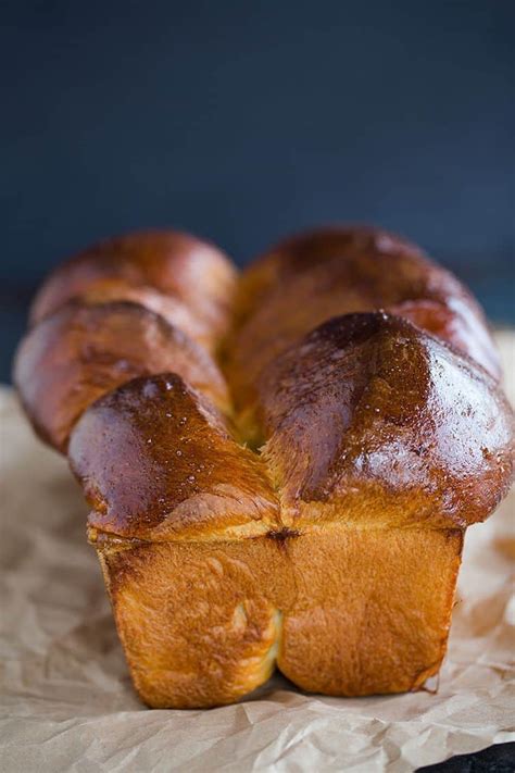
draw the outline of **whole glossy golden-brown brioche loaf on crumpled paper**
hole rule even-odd
[[[63,453],[134,684],[235,701],[416,689],[445,652],[465,529],[506,494],[514,417],[461,283],[374,228],[241,276],[175,233],[113,239],[36,297],[14,379]]]

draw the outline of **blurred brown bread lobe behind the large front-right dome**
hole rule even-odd
[[[499,377],[499,359],[474,298],[414,245],[378,228],[292,237],[243,273],[226,370],[244,409],[260,373],[332,316],[391,310],[442,337]]]

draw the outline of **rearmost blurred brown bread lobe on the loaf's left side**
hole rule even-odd
[[[173,230],[130,234],[106,239],[63,263],[36,296],[30,319],[38,323],[71,299],[108,292],[110,300],[145,304],[148,298],[154,311],[161,302],[160,313],[164,309],[177,324],[172,299],[191,311],[192,337],[200,328],[216,339],[228,322],[235,283],[230,261],[206,241]]]

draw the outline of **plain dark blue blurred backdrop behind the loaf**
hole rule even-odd
[[[149,226],[238,263],[370,221],[515,322],[513,0],[0,3],[1,349],[62,258]]]

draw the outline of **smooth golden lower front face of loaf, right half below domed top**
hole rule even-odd
[[[325,695],[420,687],[445,653],[462,545],[460,529],[329,528],[291,539],[298,595],[284,612],[280,671]]]

